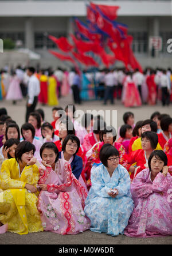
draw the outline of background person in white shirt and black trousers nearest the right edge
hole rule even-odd
[[[160,77],[161,91],[162,91],[162,106],[169,106],[170,104],[170,81],[166,74],[166,70],[163,70]]]

